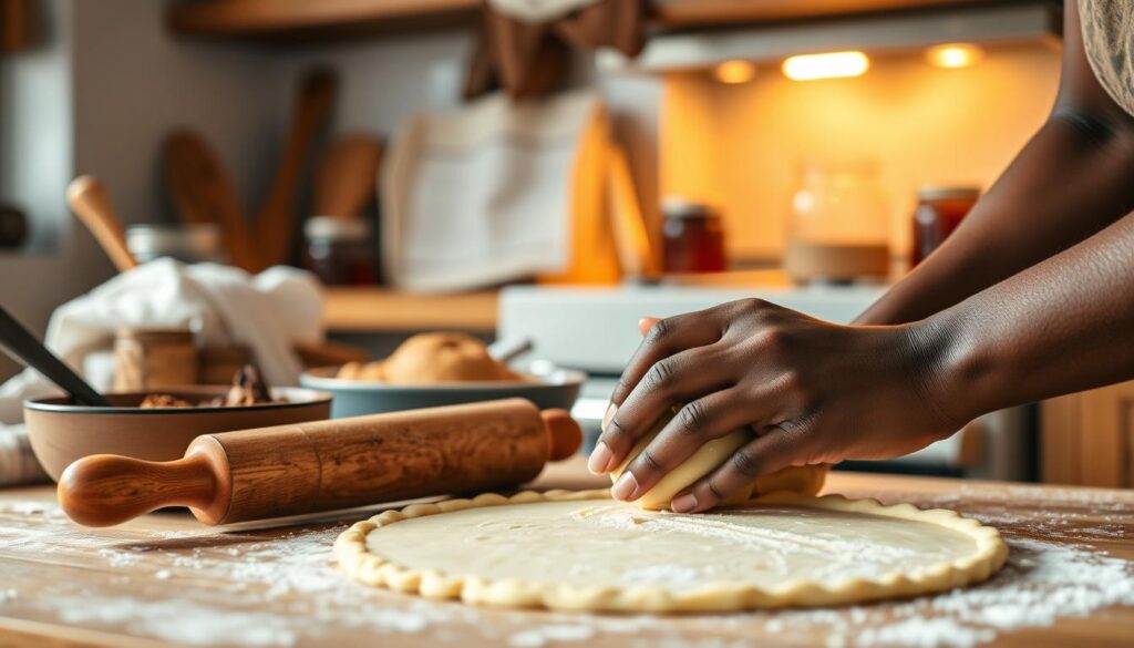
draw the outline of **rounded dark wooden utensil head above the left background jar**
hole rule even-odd
[[[323,153],[315,175],[315,214],[353,218],[374,200],[382,143],[346,135]]]

